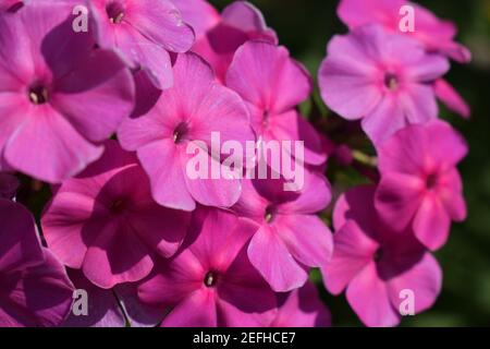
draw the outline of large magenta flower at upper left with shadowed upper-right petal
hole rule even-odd
[[[0,14],[0,167],[51,183],[100,157],[134,104],[122,60],[74,33],[71,13],[69,2],[33,1]]]

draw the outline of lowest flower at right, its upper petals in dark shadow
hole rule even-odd
[[[331,293],[346,288],[347,301],[364,324],[394,326],[402,311],[418,314],[432,306],[442,272],[409,231],[396,233],[381,224],[373,209],[375,190],[355,188],[336,203],[333,257],[321,272]],[[407,294],[413,309],[403,303]]]

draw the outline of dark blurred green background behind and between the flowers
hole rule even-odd
[[[369,1],[369,0],[366,0]],[[222,9],[232,1],[211,0]],[[336,17],[338,0],[250,0],[275,29],[280,43],[317,75],[327,41],[346,27]],[[469,156],[460,169],[465,183],[468,219],[454,225],[449,243],[437,253],[444,270],[443,290],[436,305],[417,316],[405,317],[404,326],[490,325],[490,0],[418,0],[438,16],[454,21],[458,40],[474,55],[470,64],[452,64],[448,80],[471,106],[465,121],[441,109],[467,139]],[[335,183],[338,178],[330,178]],[[358,181],[351,178],[350,184]],[[320,284],[318,273],[314,280]],[[320,287],[335,326],[358,326],[344,296],[332,297]]]

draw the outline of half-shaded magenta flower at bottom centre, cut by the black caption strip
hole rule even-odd
[[[162,326],[269,325],[275,296],[246,254],[256,226],[216,208],[200,207],[194,219],[180,252],[139,286],[140,300],[171,308]]]

